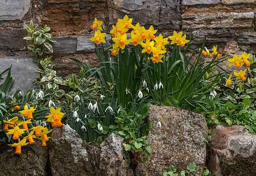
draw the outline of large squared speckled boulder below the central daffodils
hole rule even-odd
[[[158,120],[153,120],[158,118]],[[137,175],[162,175],[172,164],[178,171],[185,170],[190,163],[196,164],[195,173],[202,174],[205,166],[206,143],[204,134],[207,125],[203,115],[190,111],[150,105],[148,121],[149,146],[152,155],[145,163],[137,166]],[[160,121],[162,128],[156,127]]]

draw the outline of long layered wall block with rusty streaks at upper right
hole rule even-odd
[[[190,8],[182,14],[183,29],[194,28],[251,28],[252,9],[231,9],[227,7]]]

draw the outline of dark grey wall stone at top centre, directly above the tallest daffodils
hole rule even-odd
[[[133,18],[134,25],[140,22],[145,28],[152,25],[162,31],[181,27],[179,0],[107,0],[107,3],[111,24],[115,24],[117,19],[127,14],[129,18]]]

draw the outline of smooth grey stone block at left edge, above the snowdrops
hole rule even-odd
[[[11,77],[15,78],[15,82],[10,93],[16,92],[17,90],[27,92],[31,88],[39,88],[33,85],[33,80],[36,77],[40,77],[40,74],[35,72],[38,65],[33,63],[33,58],[4,56],[0,57],[0,65],[0,73],[12,65]],[[6,77],[7,73],[2,78]],[[4,80],[0,80],[0,85],[3,83]]]

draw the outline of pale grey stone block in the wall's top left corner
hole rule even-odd
[[[30,0],[0,1],[0,21],[22,19],[29,11]]]

